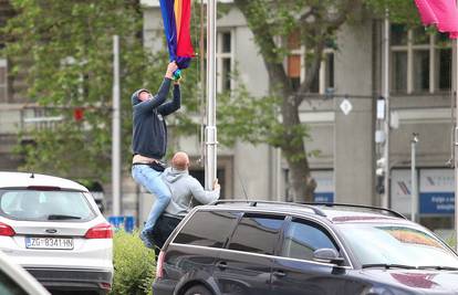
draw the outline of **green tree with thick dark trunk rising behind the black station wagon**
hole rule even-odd
[[[243,13],[269,75],[270,95],[262,99],[249,97],[243,88],[240,96],[222,97],[232,105],[221,106],[220,125],[237,126],[229,135],[241,136],[253,144],[267,143],[279,147],[285,157],[295,201],[312,201],[316,187],[311,177],[308,157],[315,151],[308,150],[310,138],[308,126],[301,124],[299,107],[311,93],[313,81],[319,74],[326,46],[339,50],[336,33],[345,23],[357,23],[361,15],[383,17],[385,9],[393,9],[392,20],[418,22],[415,4],[404,0],[235,0]],[[298,33],[298,42],[305,45],[305,80],[293,87],[283,62],[291,53],[288,40]],[[243,99],[244,97],[244,99]],[[229,107],[230,109],[225,109]],[[223,113],[222,113],[223,110]],[[226,115],[225,115],[226,114]],[[237,114],[237,116],[227,116]],[[254,115],[253,115],[254,114]]]

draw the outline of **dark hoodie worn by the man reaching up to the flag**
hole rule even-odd
[[[133,137],[132,151],[145,157],[162,159],[167,147],[167,126],[164,117],[177,110],[181,105],[179,86],[174,86],[174,98],[165,103],[171,80],[164,78],[159,92],[149,101],[142,102],[138,89],[132,95]]]

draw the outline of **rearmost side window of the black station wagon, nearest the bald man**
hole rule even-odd
[[[197,211],[175,238],[174,243],[222,247],[237,219],[237,213],[231,212]]]

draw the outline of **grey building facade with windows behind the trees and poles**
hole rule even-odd
[[[144,44],[152,51],[163,49],[163,24],[157,0],[142,0]],[[230,2],[230,1],[226,1]],[[8,1],[0,1],[0,21],[11,15]],[[301,120],[310,126],[312,140],[308,150],[320,150],[310,158],[312,176],[318,181],[316,201],[381,204],[377,188],[377,160],[383,146],[376,143],[377,98],[382,94],[381,20],[363,15],[358,23],[344,25],[337,35],[337,50],[326,50],[314,93],[301,106]],[[217,87],[237,87],[229,78],[237,67],[239,80],[251,94],[269,91],[266,65],[258,54],[253,35],[240,11],[231,8],[218,19]],[[440,34],[423,28],[391,25],[389,86],[392,129],[389,137],[389,203],[406,215],[410,213],[410,141],[418,133],[416,177],[419,191],[420,222],[433,229],[452,226],[454,172],[451,157],[451,50]],[[1,42],[0,42],[1,43]],[[285,59],[291,80],[304,78],[303,50],[296,48]],[[20,80],[8,76],[8,61],[0,56],[0,169],[15,170],[20,159],[12,156],[17,134],[33,127],[51,128],[52,123],[37,123],[39,109],[25,104]],[[173,138],[177,149],[201,159],[199,135]],[[204,179],[204,168],[192,166],[192,173]],[[218,178],[223,198],[289,200],[288,165],[281,150],[267,146],[237,143],[218,149]],[[110,183],[105,183],[110,214]],[[135,186],[126,171],[123,182],[124,214],[142,221],[153,199]]]

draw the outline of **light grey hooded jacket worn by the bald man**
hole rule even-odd
[[[200,182],[189,175],[188,170],[176,170],[168,167],[163,172],[163,180],[171,192],[171,199],[165,214],[185,217],[192,208],[194,200],[201,204],[208,204],[219,199],[219,188],[206,191]]]

